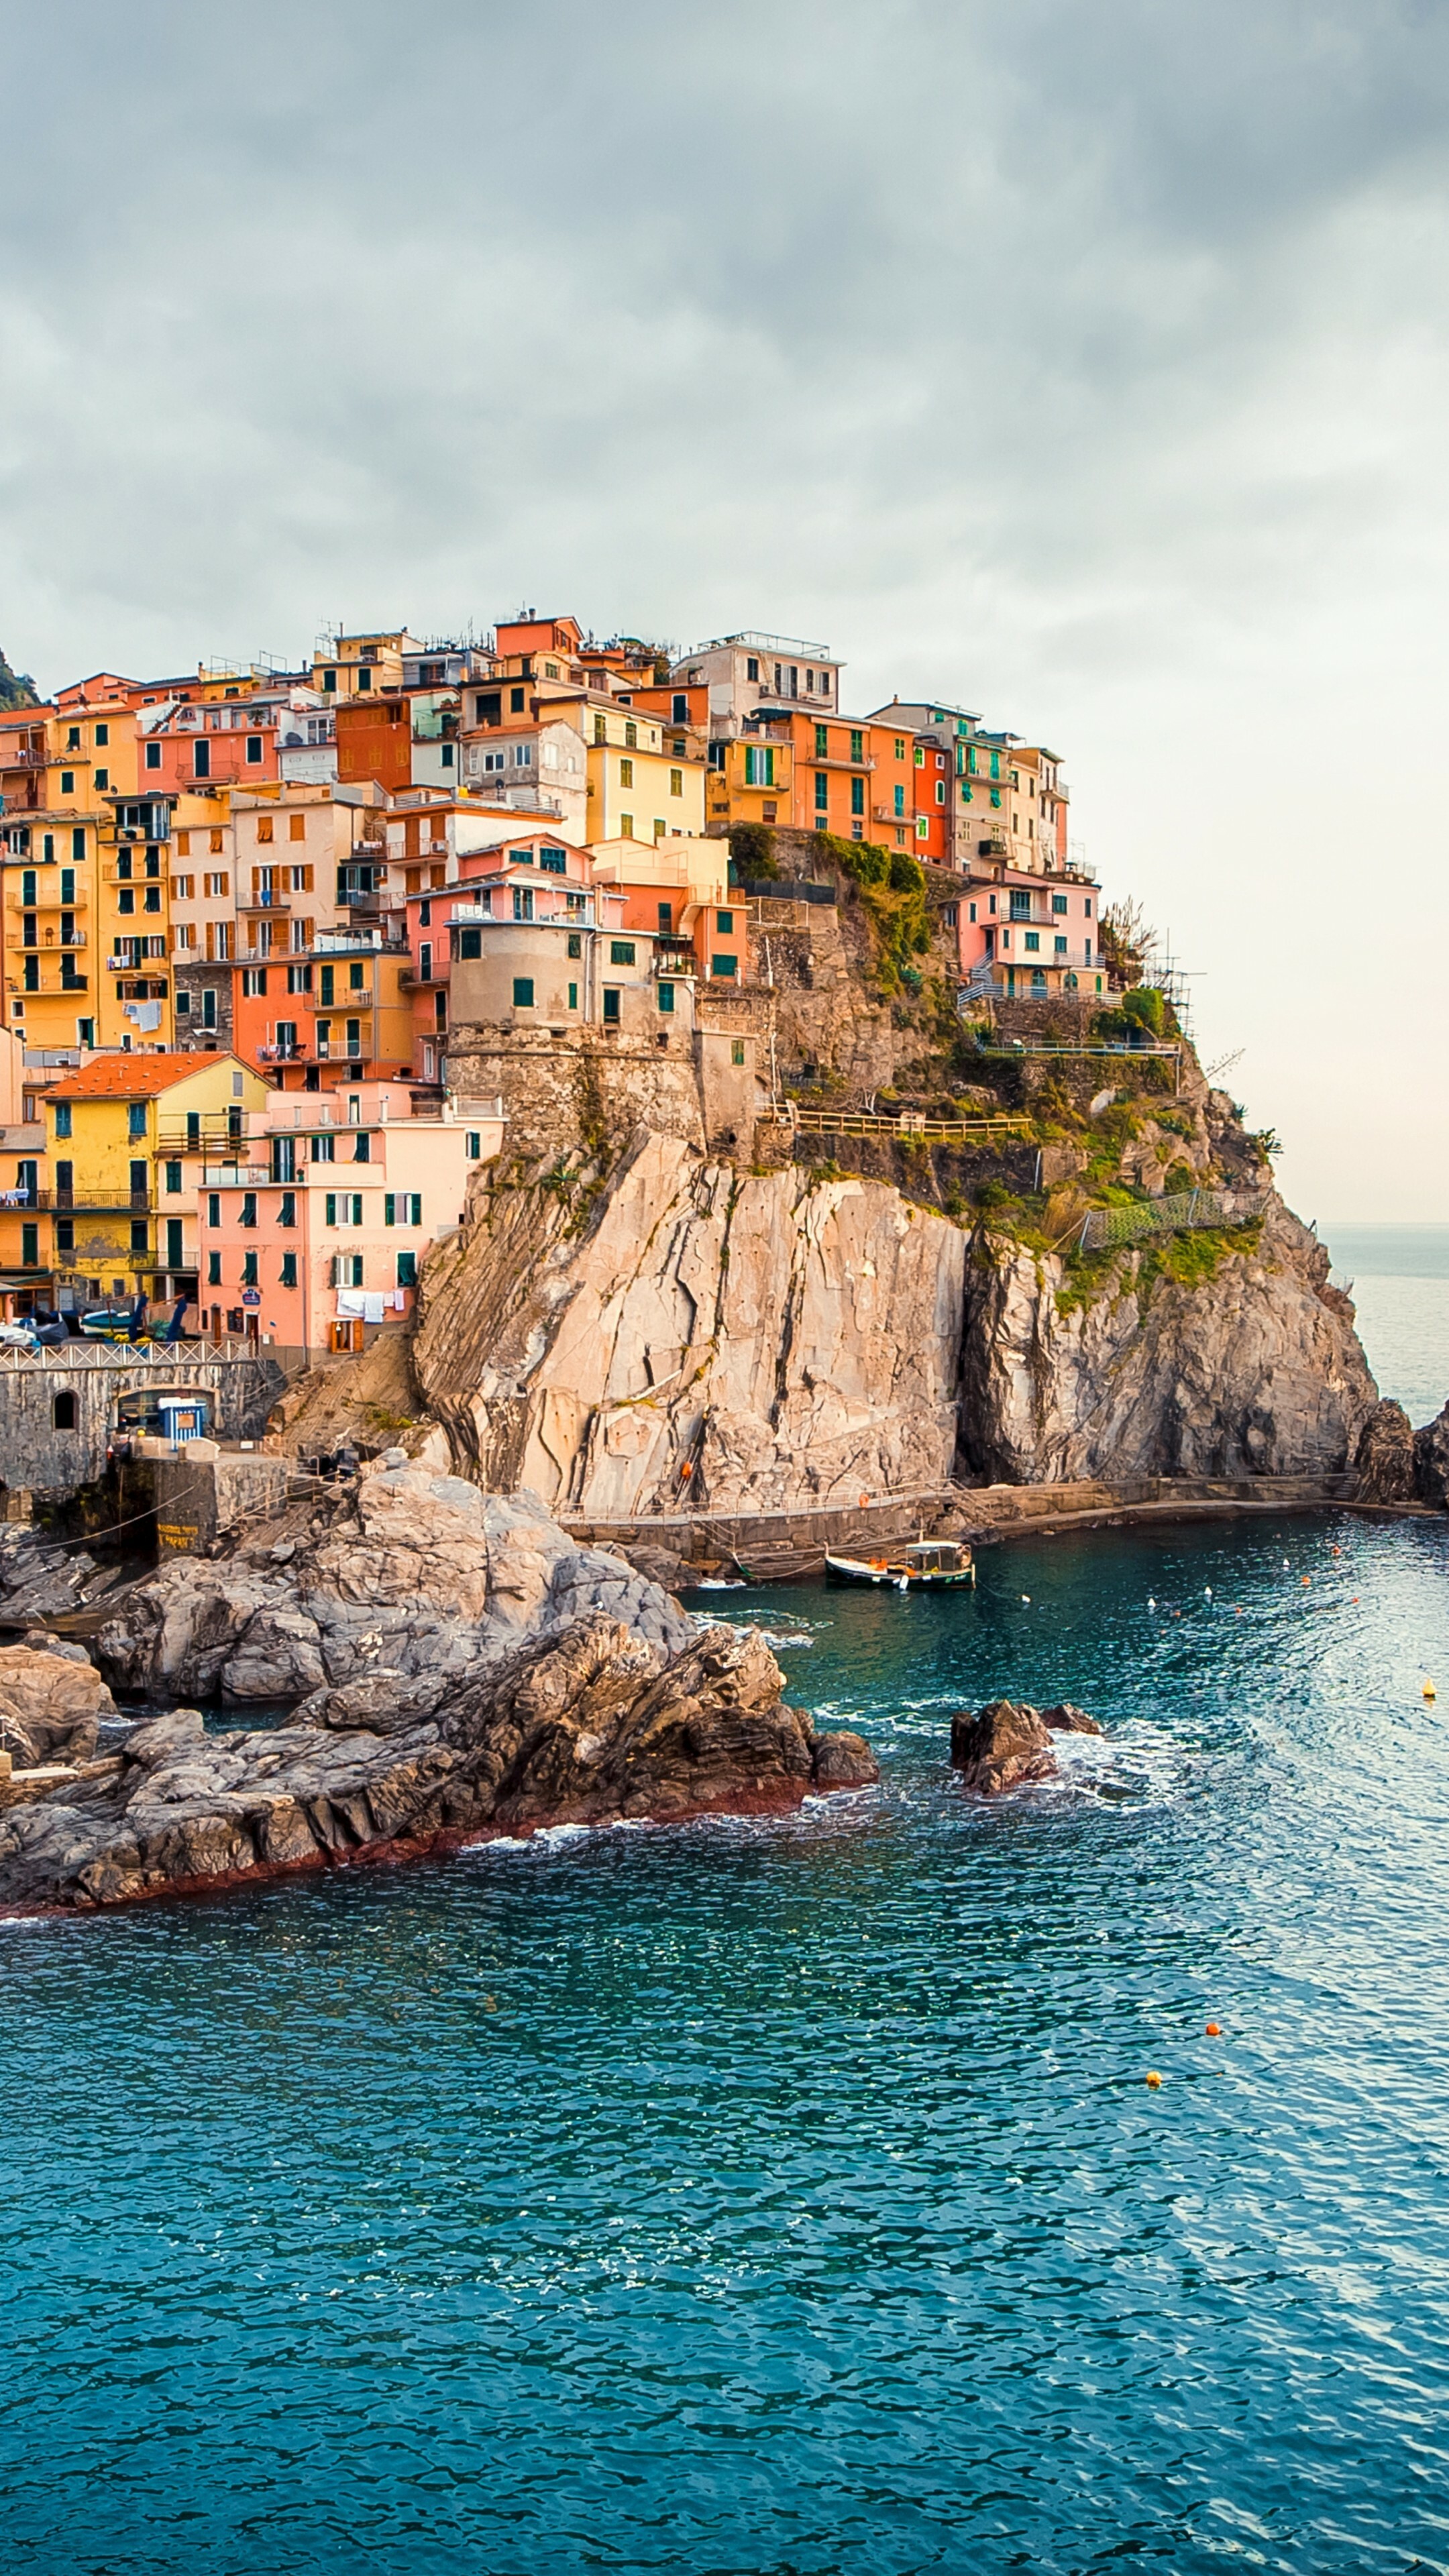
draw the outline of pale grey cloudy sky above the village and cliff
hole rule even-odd
[[[1444,0],[0,0],[0,644],[521,603],[1065,755],[1305,1216],[1449,1218]]]

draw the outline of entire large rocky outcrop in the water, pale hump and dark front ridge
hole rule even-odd
[[[129,1690],[299,1705],[284,1726],[235,1734],[173,1708],[103,1759],[90,1713],[64,1777],[0,1785],[0,1911],[129,1904],[565,1821],[786,1814],[877,1777],[861,1736],[817,1736],[784,1705],[755,1631],[699,1631],[616,1556],[575,1548],[531,1497],[405,1466],[229,1561],[165,1566],[98,1651]],[[52,1705],[80,1682],[90,1710],[101,1695],[90,1667],[0,1656],[0,1698],[31,1692],[28,1749],[46,1680]]]

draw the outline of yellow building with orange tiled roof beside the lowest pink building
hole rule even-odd
[[[44,1100],[41,1267],[85,1296],[196,1296],[196,1177],[268,1084],[237,1056],[93,1056]]]

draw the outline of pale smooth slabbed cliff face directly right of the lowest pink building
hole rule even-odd
[[[415,1368],[482,1484],[601,1517],[946,1484],[959,1226],[650,1131],[575,1226],[518,1193],[428,1265]]]

